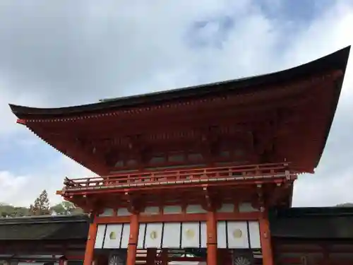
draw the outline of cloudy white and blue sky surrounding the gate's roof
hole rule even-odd
[[[59,107],[277,71],[353,44],[346,0],[1,0],[0,202],[52,204],[88,170],[16,124],[8,102]],[[353,202],[353,69],[321,165],[294,206]]]

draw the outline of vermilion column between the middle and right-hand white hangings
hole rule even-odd
[[[207,265],[217,265],[217,218],[215,211],[207,213]]]

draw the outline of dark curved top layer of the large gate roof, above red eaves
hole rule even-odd
[[[179,88],[167,90],[158,93],[148,93],[143,95],[133,95],[124,98],[112,98],[101,100],[100,102],[79,105],[73,107],[58,108],[36,108],[24,107],[10,104],[11,110],[19,119],[46,118],[46,117],[62,117],[73,114],[88,114],[92,112],[101,112],[105,110],[117,109],[121,107],[137,107],[140,105],[156,104],[158,102],[166,102],[170,100],[181,100],[183,98],[194,98],[205,95],[220,95],[233,91],[234,93],[249,93],[253,90],[263,90],[264,86],[280,85],[295,80],[309,78],[317,73],[325,73],[328,71],[340,70],[345,73],[347,61],[349,57],[349,47],[340,49],[333,54],[329,54],[307,64],[268,73],[261,76],[252,76],[249,78],[239,78],[229,81],[209,83],[202,86],[192,86],[188,88]],[[343,78],[342,78],[343,80]],[[342,83],[337,88],[336,103],[340,95]],[[336,104],[337,105],[337,104]]]

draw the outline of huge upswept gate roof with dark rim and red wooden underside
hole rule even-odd
[[[287,160],[298,172],[313,172],[333,121],[348,54],[349,47],[294,69],[197,88],[78,107],[11,109],[20,123],[99,175],[112,171],[109,155],[129,153],[131,144],[136,152],[149,148],[153,153],[178,145],[199,147],[213,138],[225,146],[245,146],[259,162]]]

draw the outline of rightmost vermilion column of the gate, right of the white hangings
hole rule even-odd
[[[260,240],[263,254],[263,265],[273,265],[273,252],[271,246],[270,222],[267,214],[264,214],[260,220]]]

